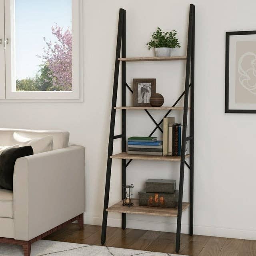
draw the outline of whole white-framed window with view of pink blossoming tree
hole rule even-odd
[[[81,101],[82,0],[0,5],[0,99]]]

